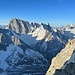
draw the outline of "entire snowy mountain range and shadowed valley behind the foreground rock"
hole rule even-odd
[[[58,29],[16,18],[0,26],[0,75],[45,75],[52,58],[74,39],[73,32],[74,27]]]

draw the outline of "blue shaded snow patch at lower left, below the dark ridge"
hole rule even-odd
[[[9,64],[6,62],[6,59],[11,55],[12,55],[12,57],[10,59],[12,60],[12,63],[13,64],[17,63],[17,61],[19,60],[19,58],[17,56],[18,53],[23,55],[23,50],[21,48],[19,48],[18,46],[15,46],[12,44],[9,45],[9,47],[7,47],[6,51],[1,50],[0,51],[0,68],[6,70],[7,67],[9,67]]]

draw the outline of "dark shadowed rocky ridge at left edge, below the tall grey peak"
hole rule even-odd
[[[15,37],[10,30],[0,29],[0,43],[4,45],[21,45],[20,39]]]

